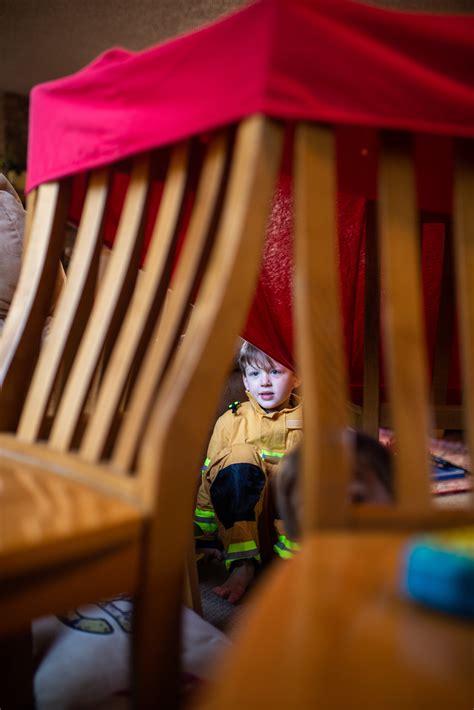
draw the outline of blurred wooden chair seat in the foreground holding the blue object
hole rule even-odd
[[[406,540],[310,537],[260,589],[200,710],[469,705],[473,627],[403,598]]]

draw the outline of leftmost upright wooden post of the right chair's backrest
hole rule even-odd
[[[304,532],[343,524],[350,457],[331,129],[296,129],[295,307],[303,385]]]

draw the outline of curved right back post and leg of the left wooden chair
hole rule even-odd
[[[254,293],[281,145],[281,129],[261,116],[239,127],[212,260],[141,448],[140,479],[155,510],[134,621],[140,639],[135,658],[138,707],[146,707],[150,698],[160,698],[170,710],[178,704],[177,620],[196,472]],[[173,545],[163,538],[167,529],[173,530]]]

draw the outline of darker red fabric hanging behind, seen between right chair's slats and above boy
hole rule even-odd
[[[344,337],[352,400],[362,403],[364,358],[364,285],[366,213],[376,199],[378,145],[373,130],[340,128],[336,131],[338,200],[337,231]],[[440,316],[440,288],[446,253],[446,225],[452,202],[453,152],[450,139],[416,135],[413,141],[418,206],[422,228],[422,285],[429,368],[433,367]],[[255,299],[243,336],[288,367],[295,367],[292,333],[292,232],[291,164],[284,160],[275,193],[267,243]],[[459,362],[455,304],[448,322],[452,333],[451,367],[447,402],[459,402]],[[381,355],[383,366],[383,357]],[[383,369],[383,367],[382,367]],[[384,374],[381,374],[382,398]]]

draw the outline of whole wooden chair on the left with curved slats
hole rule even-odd
[[[45,613],[133,595],[137,707],[178,702],[196,472],[255,288],[281,143],[278,125],[254,116],[212,136],[201,167],[193,141],[135,158],[95,298],[109,170],[92,172],[42,344],[70,180],[30,198],[29,244],[0,343],[0,635]],[[139,272],[153,180],[166,166]]]

